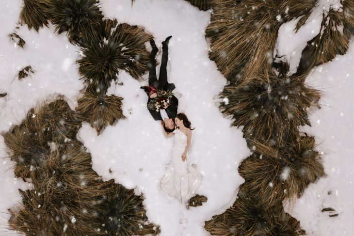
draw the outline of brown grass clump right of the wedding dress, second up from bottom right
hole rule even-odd
[[[284,199],[294,200],[310,183],[326,176],[313,137],[302,136],[284,148],[256,147],[255,152],[239,166],[245,179],[244,189],[262,196],[263,205],[282,205]]]

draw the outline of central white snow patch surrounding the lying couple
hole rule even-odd
[[[195,126],[187,158],[203,176],[197,193],[207,196],[208,202],[187,210],[159,188],[171,158],[173,138],[163,136],[160,123],[146,109],[147,96],[140,86],[147,80],[139,83],[125,72],[118,76],[124,85],[112,84],[108,93],[124,98],[127,119],[106,127],[99,136],[86,123],[78,134],[92,154],[93,169],[105,180],[114,178],[128,188],[137,186],[136,191],[145,196],[147,217],[161,226],[161,236],[208,235],[204,221],[235,201],[237,188],[243,183],[237,168],[250,154],[241,129],[230,127],[231,121],[223,118],[214,99],[226,79],[208,58],[204,34],[210,15],[185,1],[137,0],[132,7],[130,0],[101,2],[106,17],[144,27],[154,35],[157,45],[173,35],[169,43],[169,81],[176,85],[178,111],[185,112]]]

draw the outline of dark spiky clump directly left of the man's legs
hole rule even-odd
[[[149,53],[145,42],[152,35],[144,29],[116,20],[104,20],[100,27],[85,32],[80,44],[82,57],[78,60],[82,79],[93,84],[103,94],[119,70],[126,70],[135,79],[147,71]]]

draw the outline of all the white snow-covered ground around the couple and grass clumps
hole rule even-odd
[[[123,110],[127,119],[107,126],[99,136],[85,123],[78,138],[91,152],[93,169],[99,175],[105,180],[114,178],[127,188],[144,194],[147,216],[161,226],[161,236],[209,235],[203,229],[204,221],[224,212],[235,201],[237,188],[243,183],[237,167],[250,154],[241,129],[230,127],[231,121],[217,108],[217,95],[226,79],[208,57],[209,45],[204,35],[210,13],[199,11],[184,0],[135,0],[133,5],[131,0],[100,2],[104,16],[144,27],[158,45],[173,35],[167,66],[169,81],[176,85],[178,110],[185,112],[195,126],[187,158],[202,173],[197,193],[207,196],[208,202],[186,209],[159,189],[158,183],[169,167],[173,138],[164,138],[160,124],[146,109],[147,97],[139,87],[146,85],[147,80],[138,82],[121,71],[118,78],[124,85],[113,83],[108,93],[124,98]],[[79,49],[71,45],[64,34],[54,34],[52,25],[49,29],[42,28],[39,33],[29,31],[26,25],[20,26],[16,32],[26,41],[26,47],[14,46],[7,35],[17,26],[22,0],[2,0],[0,4],[0,20],[6,22],[0,26],[0,93],[8,93],[0,98],[0,131],[19,124],[27,110],[58,94],[64,95],[74,109],[83,88],[75,63]],[[319,30],[321,19],[315,18],[317,23],[312,30]],[[310,30],[306,30],[308,35],[313,34]],[[300,33],[306,35],[306,31]],[[307,39],[304,41],[305,36],[301,36],[293,40],[297,46],[291,47],[287,35],[280,33],[280,36],[283,41],[279,38],[277,47],[282,47],[283,54],[291,61],[291,68],[295,68],[298,59],[292,60],[294,54],[290,56],[290,53],[304,47]],[[291,48],[283,47],[282,42],[288,42]],[[149,47],[148,43],[146,46]],[[161,54],[158,61],[161,61]],[[319,66],[307,78],[310,85],[325,93],[322,109],[310,116],[312,127],[304,129],[320,143],[317,149],[323,152],[328,177],[310,185],[288,211],[313,236],[354,235],[351,223],[354,217],[353,64],[352,42],[346,55]],[[35,73],[18,81],[16,74],[27,65],[31,65]],[[20,203],[17,189],[26,189],[28,185],[14,178],[11,169],[14,163],[6,158],[2,136],[0,157],[3,157],[0,162],[0,235],[16,235],[6,229],[7,208]],[[330,190],[332,194],[328,195]],[[324,207],[334,208],[338,217],[329,218],[328,213],[321,212]]]

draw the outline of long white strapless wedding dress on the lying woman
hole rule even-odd
[[[187,160],[182,161],[182,154],[187,146],[187,135],[179,129],[175,133],[175,144],[172,150],[172,168],[161,181],[161,189],[170,196],[176,197],[180,203],[186,203],[199,187],[201,174]]]

